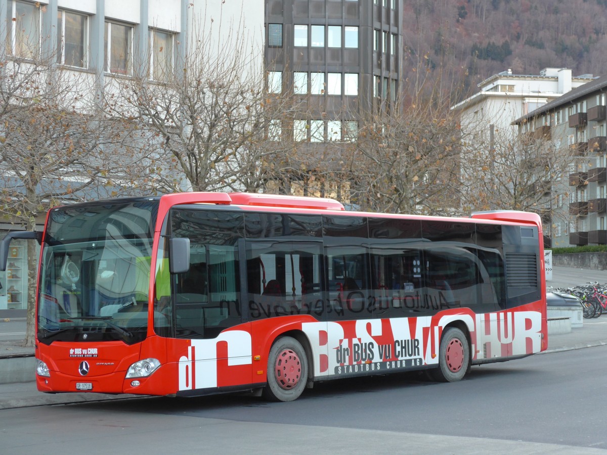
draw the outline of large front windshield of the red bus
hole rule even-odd
[[[38,296],[38,339],[123,340],[146,336],[157,201],[53,210]]]

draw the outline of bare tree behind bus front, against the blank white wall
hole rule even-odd
[[[292,109],[268,93],[262,50],[250,49],[245,27],[234,25],[218,50],[214,26],[193,18],[195,41],[177,45],[175,70],[153,67],[118,81],[106,98],[111,116],[137,122],[154,140],[160,191],[259,189],[268,178],[263,164],[277,153],[267,141],[271,120]]]

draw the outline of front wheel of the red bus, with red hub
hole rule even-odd
[[[293,401],[304,391],[308,380],[308,359],[294,338],[280,337],[268,355],[268,385],[263,397],[271,401]]]

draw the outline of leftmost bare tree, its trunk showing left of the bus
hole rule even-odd
[[[50,207],[123,194],[134,181],[129,124],[108,120],[94,99],[90,75],[57,69],[54,59],[2,62],[0,89],[0,215],[35,230]],[[123,153],[117,153],[118,150]],[[25,345],[35,339],[35,248],[28,248]]]

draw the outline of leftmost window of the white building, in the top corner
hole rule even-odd
[[[7,53],[35,58],[40,52],[41,5],[36,2],[7,2]]]

